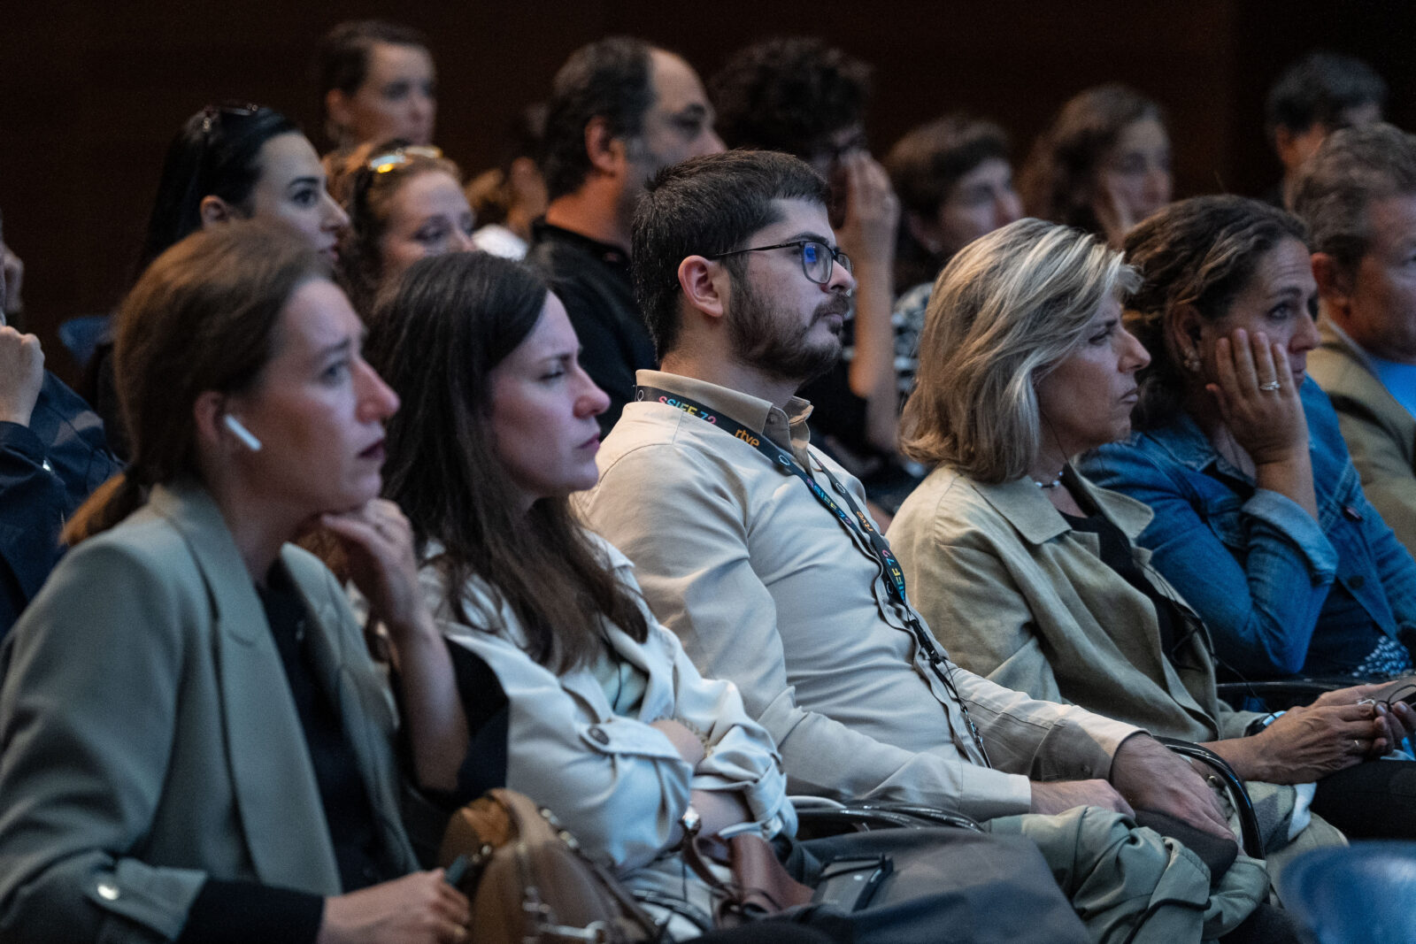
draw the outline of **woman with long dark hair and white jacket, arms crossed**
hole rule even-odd
[[[486,744],[473,756],[500,749],[506,784],[552,810],[632,887],[704,911],[708,889],[680,849],[695,818],[705,836],[738,824],[779,836],[792,849],[784,865],[809,883],[838,856],[922,842],[937,849],[925,856],[956,853],[949,835],[910,829],[787,842],[796,812],[772,737],[731,682],[698,674],[646,607],[630,562],[571,512],[571,493],[595,484],[595,416],[607,403],[576,348],[545,283],[490,256],[418,263],[372,318],[370,357],[406,403],[389,423],[385,495],[409,511],[443,631],[489,679],[466,692],[469,727]],[[909,860],[892,858],[901,869]],[[885,885],[851,914],[855,940],[937,941],[954,894],[937,876],[932,868],[922,890],[909,872]],[[1021,934],[1035,917],[978,920]]]

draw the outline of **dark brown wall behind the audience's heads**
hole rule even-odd
[[[1416,4],[1388,0],[347,0],[7,3],[0,11],[0,208],[27,265],[28,324],[50,364],[64,318],[108,310],[142,241],[167,140],[208,100],[286,112],[319,140],[307,81],[317,37],[338,20],[389,16],[432,37],[438,143],[469,173],[545,98],[578,45],[633,33],[705,76],[766,35],[816,33],[877,67],[869,120],[884,153],[950,109],[993,116],[1021,157],[1056,108],[1120,79],[1160,99],[1177,192],[1255,194],[1277,175],[1263,96],[1290,59],[1323,45],[1372,62],[1392,120],[1416,127]]]

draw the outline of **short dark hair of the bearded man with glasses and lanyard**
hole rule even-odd
[[[741,249],[748,236],[777,222],[777,200],[826,205],[830,188],[811,167],[777,151],[728,151],[691,157],[649,181],[634,211],[634,296],[660,359],[681,327],[678,263]],[[724,263],[735,276],[741,262]]]

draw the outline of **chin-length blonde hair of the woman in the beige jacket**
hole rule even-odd
[[[1138,283],[1099,238],[1041,219],[961,249],[929,297],[905,454],[984,483],[1024,476],[1041,446],[1038,381],[1082,345],[1104,300]]]

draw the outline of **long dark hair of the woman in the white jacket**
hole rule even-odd
[[[381,294],[370,318],[368,362],[398,392],[387,427],[384,495],[413,526],[419,556],[446,580],[459,623],[494,631],[496,613],[467,611],[481,579],[521,621],[537,662],[565,672],[600,651],[600,620],[644,641],[639,601],[575,521],[566,498],[520,512],[491,432],[491,369],[532,331],[545,282],[486,253],[421,259]]]

